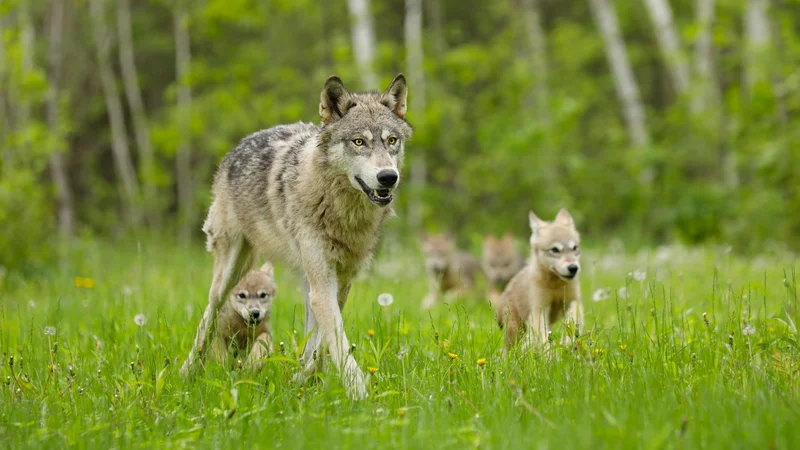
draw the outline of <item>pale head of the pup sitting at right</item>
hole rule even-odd
[[[562,280],[572,280],[581,269],[580,235],[566,209],[553,222],[545,222],[531,212],[531,251],[536,261]]]

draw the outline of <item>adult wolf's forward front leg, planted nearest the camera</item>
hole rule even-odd
[[[331,359],[342,375],[347,394],[354,400],[367,396],[364,374],[350,354],[350,342],[344,333],[342,312],[337,295],[341,290],[335,270],[320,259],[321,252],[304,252],[304,266],[311,287],[311,309],[317,320],[318,332],[331,352]],[[310,256],[307,257],[307,255]]]

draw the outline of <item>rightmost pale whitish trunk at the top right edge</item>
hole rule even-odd
[[[744,16],[744,84],[750,94],[756,84],[769,79],[766,67],[766,53],[770,47],[768,7],[768,0],[747,0]]]

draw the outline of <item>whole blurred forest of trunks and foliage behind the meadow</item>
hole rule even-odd
[[[798,0],[1,0],[0,264],[201,238],[247,134],[410,80],[392,233],[800,247]]]

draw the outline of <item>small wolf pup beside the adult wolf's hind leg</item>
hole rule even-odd
[[[219,311],[212,347],[218,363],[223,363],[229,352],[238,357],[240,351],[250,349],[245,366],[261,369],[261,359],[272,351],[269,316],[277,289],[274,274],[272,264],[266,263],[248,272],[231,290],[228,301]]]

